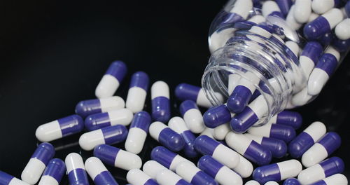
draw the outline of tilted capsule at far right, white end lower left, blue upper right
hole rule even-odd
[[[320,163],[338,149],[341,143],[342,141],[337,133],[327,132],[302,155],[302,165],[310,167]]]

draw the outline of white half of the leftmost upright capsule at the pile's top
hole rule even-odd
[[[101,81],[99,81],[99,85],[97,85],[94,93],[98,98],[111,97],[116,93],[119,85],[119,81],[116,77],[111,74],[105,74]]]

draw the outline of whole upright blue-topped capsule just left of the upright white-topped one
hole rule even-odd
[[[130,88],[127,92],[126,107],[133,113],[144,109],[149,78],[144,71],[137,71],[132,75]]]

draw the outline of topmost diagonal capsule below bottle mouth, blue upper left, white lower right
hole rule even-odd
[[[195,149],[202,155],[209,155],[230,168],[235,168],[239,163],[237,152],[211,139],[206,135],[201,135],[195,139]]]

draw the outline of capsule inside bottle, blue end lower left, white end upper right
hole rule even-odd
[[[324,34],[330,32],[342,20],[342,11],[338,8],[332,8],[330,11],[307,23],[303,29],[304,36],[309,40],[318,39]]]

